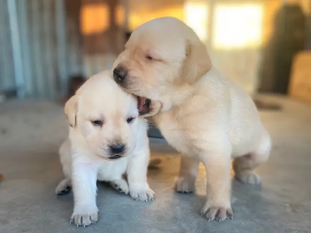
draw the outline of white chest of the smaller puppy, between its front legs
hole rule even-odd
[[[120,179],[120,175],[126,172],[128,158],[122,158],[118,161],[104,160],[99,167],[97,173],[97,180],[99,181],[113,181]]]

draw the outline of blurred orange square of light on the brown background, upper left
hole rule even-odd
[[[81,32],[85,35],[103,33],[109,26],[107,4],[86,4],[81,9]]]

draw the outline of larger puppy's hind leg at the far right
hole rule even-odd
[[[271,150],[271,140],[269,135],[262,137],[257,150],[235,158],[233,162],[233,169],[235,177],[242,183],[260,184],[261,179],[254,169],[260,164],[267,161]]]

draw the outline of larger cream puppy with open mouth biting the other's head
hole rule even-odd
[[[256,184],[260,179],[253,169],[268,159],[271,148],[250,96],[212,66],[198,36],[173,17],[156,18],[134,30],[113,67],[115,81],[140,102],[160,102],[152,118],[185,155],[176,191],[194,191],[202,162],[207,172],[202,216],[233,218],[231,159],[236,177]]]

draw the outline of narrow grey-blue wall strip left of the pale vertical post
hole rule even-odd
[[[11,33],[6,0],[0,0],[0,91],[16,87]]]

